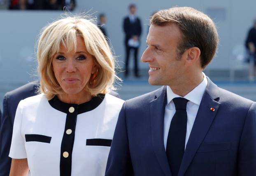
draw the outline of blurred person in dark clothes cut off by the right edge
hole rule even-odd
[[[256,76],[256,18],[254,26],[251,27],[247,34],[245,46],[249,53],[248,61],[251,64],[249,68],[249,80],[253,81]]]

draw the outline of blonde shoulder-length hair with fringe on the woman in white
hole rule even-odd
[[[87,18],[87,19],[86,19]],[[121,80],[115,73],[115,58],[111,49],[95,25],[95,19],[88,16],[67,16],[43,28],[37,47],[38,72],[40,73],[40,91],[48,99],[63,90],[55,78],[52,59],[64,45],[69,51],[77,48],[77,36],[84,39],[86,50],[94,58],[97,72],[91,75],[86,90],[92,96],[106,94],[114,89],[114,81]]]

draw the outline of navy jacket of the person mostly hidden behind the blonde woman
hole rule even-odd
[[[25,98],[36,95],[37,82],[23,85],[13,91],[7,92],[3,100],[3,114],[0,126],[0,176],[9,176],[12,158],[9,151],[12,142],[12,128],[19,102]]]

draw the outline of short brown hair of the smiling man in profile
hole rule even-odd
[[[178,25],[183,40],[178,46],[178,55],[191,47],[201,51],[201,66],[204,69],[213,59],[218,46],[218,32],[214,22],[206,14],[192,7],[173,7],[160,10],[150,20],[151,25]]]

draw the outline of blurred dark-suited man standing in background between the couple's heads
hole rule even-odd
[[[123,30],[125,32],[125,47],[126,47],[126,66],[125,66],[125,76],[129,73],[129,57],[130,51],[133,50],[134,54],[134,74],[139,77],[138,69],[138,49],[140,46],[140,35],[142,31],[140,19],[136,16],[136,6],[134,4],[129,6],[130,14],[124,18]]]

